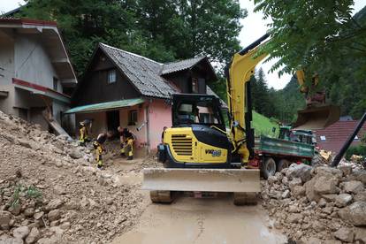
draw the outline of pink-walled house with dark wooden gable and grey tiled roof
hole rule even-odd
[[[163,127],[172,126],[172,94],[214,94],[208,84],[216,79],[205,56],[162,64],[99,43],[65,114],[75,114],[77,125],[90,119],[94,137],[118,138],[118,126],[127,127],[137,137],[135,149],[149,153]]]

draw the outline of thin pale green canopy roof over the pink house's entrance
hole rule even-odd
[[[107,103],[95,103],[72,108],[71,110],[65,111],[64,114],[111,111],[119,108],[132,107],[141,103],[145,103],[145,100],[142,98],[124,99]]]

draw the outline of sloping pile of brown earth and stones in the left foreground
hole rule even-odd
[[[0,243],[105,243],[141,214],[137,185],[91,149],[0,111]]]

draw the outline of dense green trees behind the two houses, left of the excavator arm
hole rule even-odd
[[[20,13],[57,20],[79,75],[98,42],[160,62],[200,53],[228,62],[246,14],[237,0],[27,0]]]

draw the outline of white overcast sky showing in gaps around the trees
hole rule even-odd
[[[253,0],[239,0],[241,8],[245,8],[248,11],[248,17],[245,19],[241,19],[241,24],[243,28],[240,32],[240,42],[243,47],[247,46],[251,42],[254,42],[256,39],[265,34],[268,24],[268,21],[264,21],[262,12],[254,12],[254,3]],[[0,12],[11,11],[19,7],[19,4],[24,4],[22,0],[0,0]],[[366,0],[355,0],[354,13],[360,11],[363,6],[366,5]],[[266,73],[266,78],[269,86],[275,89],[284,88],[287,82],[290,80],[290,75],[283,75],[281,78],[278,78],[277,72],[268,73],[268,70],[271,68],[271,65],[276,61],[272,60],[272,62],[268,62],[266,64],[257,65],[258,67],[263,67],[264,72]]]

